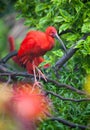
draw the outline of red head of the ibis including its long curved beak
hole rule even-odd
[[[53,27],[53,26],[47,27],[47,28],[46,28],[46,34],[47,34],[48,36],[52,37],[52,38],[56,38],[56,39],[59,41],[59,43],[61,44],[63,50],[64,50],[65,52],[67,52],[66,47],[65,47],[63,41],[61,40],[61,38],[58,36],[57,30],[56,30],[55,27]]]

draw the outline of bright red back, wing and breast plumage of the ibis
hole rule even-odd
[[[48,50],[51,50],[53,46],[54,39],[46,33],[40,31],[30,31],[21,43],[18,51],[18,57],[28,54],[31,59],[32,57],[42,56]]]

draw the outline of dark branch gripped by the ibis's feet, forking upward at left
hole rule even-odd
[[[0,60],[0,76],[23,76],[23,77],[30,77],[30,78],[33,78],[33,75],[32,74],[28,74],[27,72],[16,72],[16,71],[12,71],[12,70],[9,70],[6,66],[6,62],[13,56],[17,55],[17,51],[13,51],[11,53],[9,53],[7,56],[5,56],[4,58],[2,58]],[[37,77],[38,78],[38,77]],[[43,78],[41,78],[42,80],[44,80]],[[67,84],[60,84],[59,82],[57,82],[56,80],[52,80],[52,79],[49,79],[49,78],[46,78],[48,82],[51,82],[55,85],[57,85],[58,87],[65,87],[69,90],[72,90],[78,94],[86,94],[84,91],[81,91],[81,90],[78,90],[70,85],[67,85]]]

